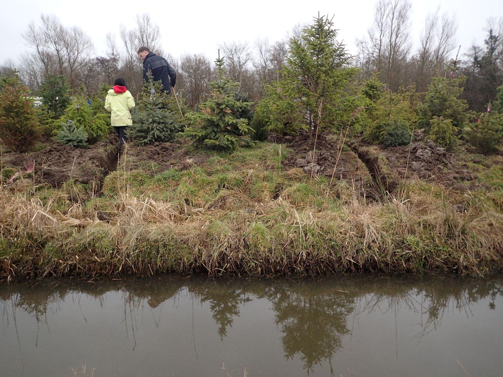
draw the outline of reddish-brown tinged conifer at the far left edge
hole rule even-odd
[[[25,152],[40,139],[37,109],[17,71],[0,78],[0,141],[16,152]]]

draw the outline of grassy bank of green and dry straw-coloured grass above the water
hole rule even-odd
[[[363,169],[363,185],[330,184],[285,168],[287,154],[263,143],[165,170],[126,152],[99,195],[72,180],[3,186],[0,277],[501,271],[500,192],[407,179],[386,193]]]

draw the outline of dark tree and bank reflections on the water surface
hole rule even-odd
[[[393,348],[395,359],[398,360],[399,331],[408,331],[399,330],[397,315],[400,313],[408,313],[408,318],[415,321],[410,325],[414,326],[413,338],[417,344],[429,333],[439,329],[449,315],[462,313],[471,318],[474,316],[474,305],[482,299],[487,299],[488,310],[495,311],[497,303],[501,303],[501,300],[498,301],[501,297],[501,278],[417,280],[361,276],[325,278],[320,281],[215,281],[174,276],[94,283],[59,280],[36,284],[30,282],[0,286],[4,334],[9,334],[8,330],[13,327],[16,334],[16,337],[8,339],[8,344],[2,342],[0,350],[6,359],[18,357],[16,352],[24,355],[23,348],[29,345],[20,336],[20,326],[25,326],[27,321],[23,317],[24,322],[20,323],[21,315],[28,315],[36,321],[34,345],[38,347],[41,326],[50,332],[51,326],[57,325],[54,321],[51,322],[51,318],[63,306],[67,308],[67,304],[71,304],[72,308],[78,308],[74,309],[78,316],[73,314],[71,320],[87,324],[90,303],[93,305],[93,313],[96,308],[100,308],[105,316],[109,306],[115,310],[117,298],[120,298],[123,313],[119,322],[126,339],[132,343],[132,351],[135,351],[137,334],[142,331],[145,323],[151,322],[157,331],[161,331],[163,326],[172,325],[171,321],[176,317],[179,306],[189,302],[192,305],[190,337],[196,359],[201,355],[201,350],[198,355],[196,347],[196,334],[204,331],[205,327],[199,332],[194,328],[202,321],[201,318],[205,318],[205,310],[211,312],[220,342],[224,342],[241,312],[248,314],[253,311],[258,316],[272,310],[285,361],[300,360],[307,374],[319,368],[322,368],[324,374],[334,374],[334,357],[337,358],[336,355],[344,347],[354,344],[355,324],[358,325],[367,316],[379,314],[394,317]],[[254,307],[254,303],[258,306]],[[194,308],[199,313],[196,313],[197,318]],[[407,320],[410,322],[410,319]],[[240,322],[240,326],[246,325]],[[242,341],[246,343],[246,339]],[[16,352],[13,350],[13,342],[18,343],[19,350]],[[200,346],[208,348],[204,344]],[[193,356],[184,355],[189,359]],[[341,371],[337,370],[337,373],[340,374]]]

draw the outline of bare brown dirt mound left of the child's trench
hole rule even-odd
[[[72,178],[76,183],[100,182],[115,169],[117,147],[112,141],[91,145],[89,149],[73,148],[54,140],[48,146],[33,153],[7,153],[3,155],[3,165],[18,172],[27,171],[34,165],[35,183],[61,186]]]

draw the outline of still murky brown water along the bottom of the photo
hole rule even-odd
[[[502,277],[31,281],[0,313],[2,377],[503,374]]]

